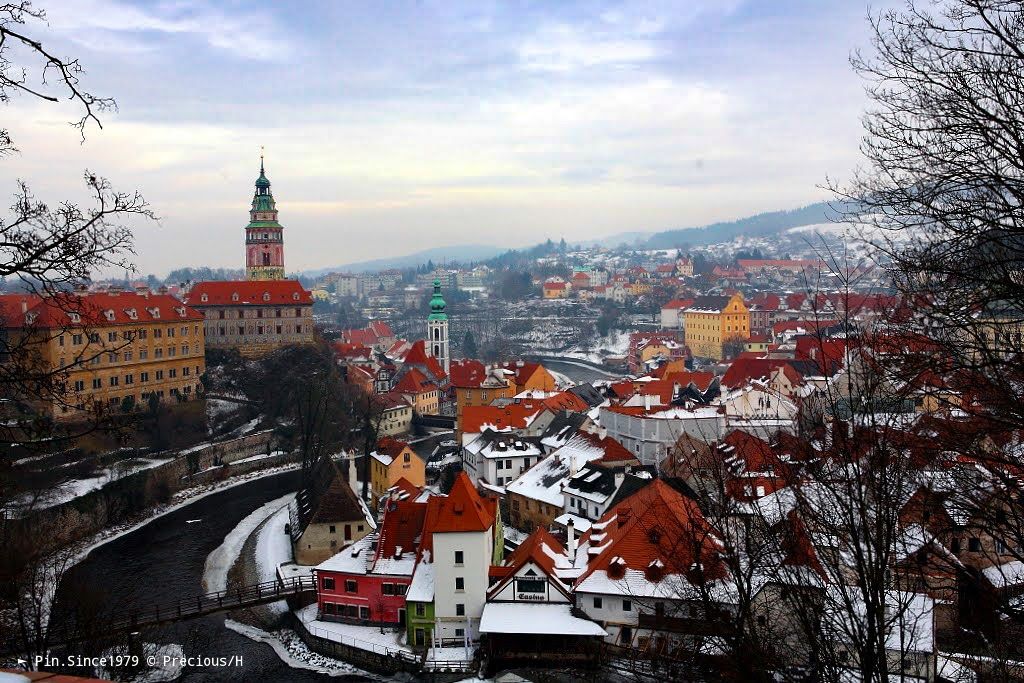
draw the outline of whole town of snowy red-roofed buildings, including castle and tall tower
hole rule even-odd
[[[6,333],[66,372],[43,409],[68,421],[202,398],[208,352],[255,361],[312,344],[314,305],[420,307],[404,334],[380,317],[330,340],[376,409],[360,427],[375,438],[367,454],[313,463],[290,506],[294,562],[279,575],[315,582],[298,610],[312,640],[425,667],[639,658],[721,672],[751,642],[737,640],[742,624],[744,637],[785,649],[786,666],[811,668],[819,653],[800,610],[813,604],[818,634],[856,670],[848,634],[867,616],[849,600],[842,613],[829,605],[856,584],[861,540],[836,517],[870,492],[837,482],[877,466],[880,447],[906,463],[872,503],[894,520],[889,673],[938,680],[940,640],[987,628],[975,603],[1024,593],[989,522],[1020,504],[999,495],[1007,471],[936,447],[1024,441],[986,440],[991,396],[975,378],[938,359],[889,374],[929,348],[889,327],[914,306],[872,292],[880,273],[865,269],[856,291],[809,291],[811,272],[835,285],[809,258],[708,267],[677,250],[592,248],[537,261],[537,305],[650,304],[602,365],[561,356],[603,379],[570,381],[540,352],[460,350],[451,293],[492,297],[492,266],[433,267],[415,285],[393,270],[329,273],[311,289],[288,279],[262,159],[245,280],[7,294],[0,306]],[[965,496],[967,479],[984,500]]]

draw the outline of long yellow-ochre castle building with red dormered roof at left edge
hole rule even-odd
[[[168,294],[4,295],[0,309],[15,360],[24,349],[38,353],[46,372],[67,369],[40,407],[54,419],[139,410],[154,398],[176,402],[202,392],[203,315]]]

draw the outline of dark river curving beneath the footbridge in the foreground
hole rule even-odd
[[[203,592],[206,557],[242,519],[264,503],[295,490],[298,472],[286,472],[239,484],[158,517],[145,526],[93,550],[69,571],[57,593],[54,618],[67,594],[88,591],[111,604],[170,603]],[[224,627],[214,614],[143,632],[146,642],[180,643],[186,655],[241,655],[244,666],[185,669],[179,681],[329,681],[317,672],[293,669],[273,649]],[[97,653],[98,654],[98,653]],[[369,680],[340,677],[342,680]]]

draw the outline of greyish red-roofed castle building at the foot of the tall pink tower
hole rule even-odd
[[[297,280],[197,283],[184,302],[206,318],[207,348],[258,357],[313,342],[313,298]]]

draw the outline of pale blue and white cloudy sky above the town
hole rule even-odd
[[[118,112],[2,105],[0,189],[137,188],[141,273],[244,264],[261,146],[289,271],[796,208],[859,161],[859,0],[36,4]]]

